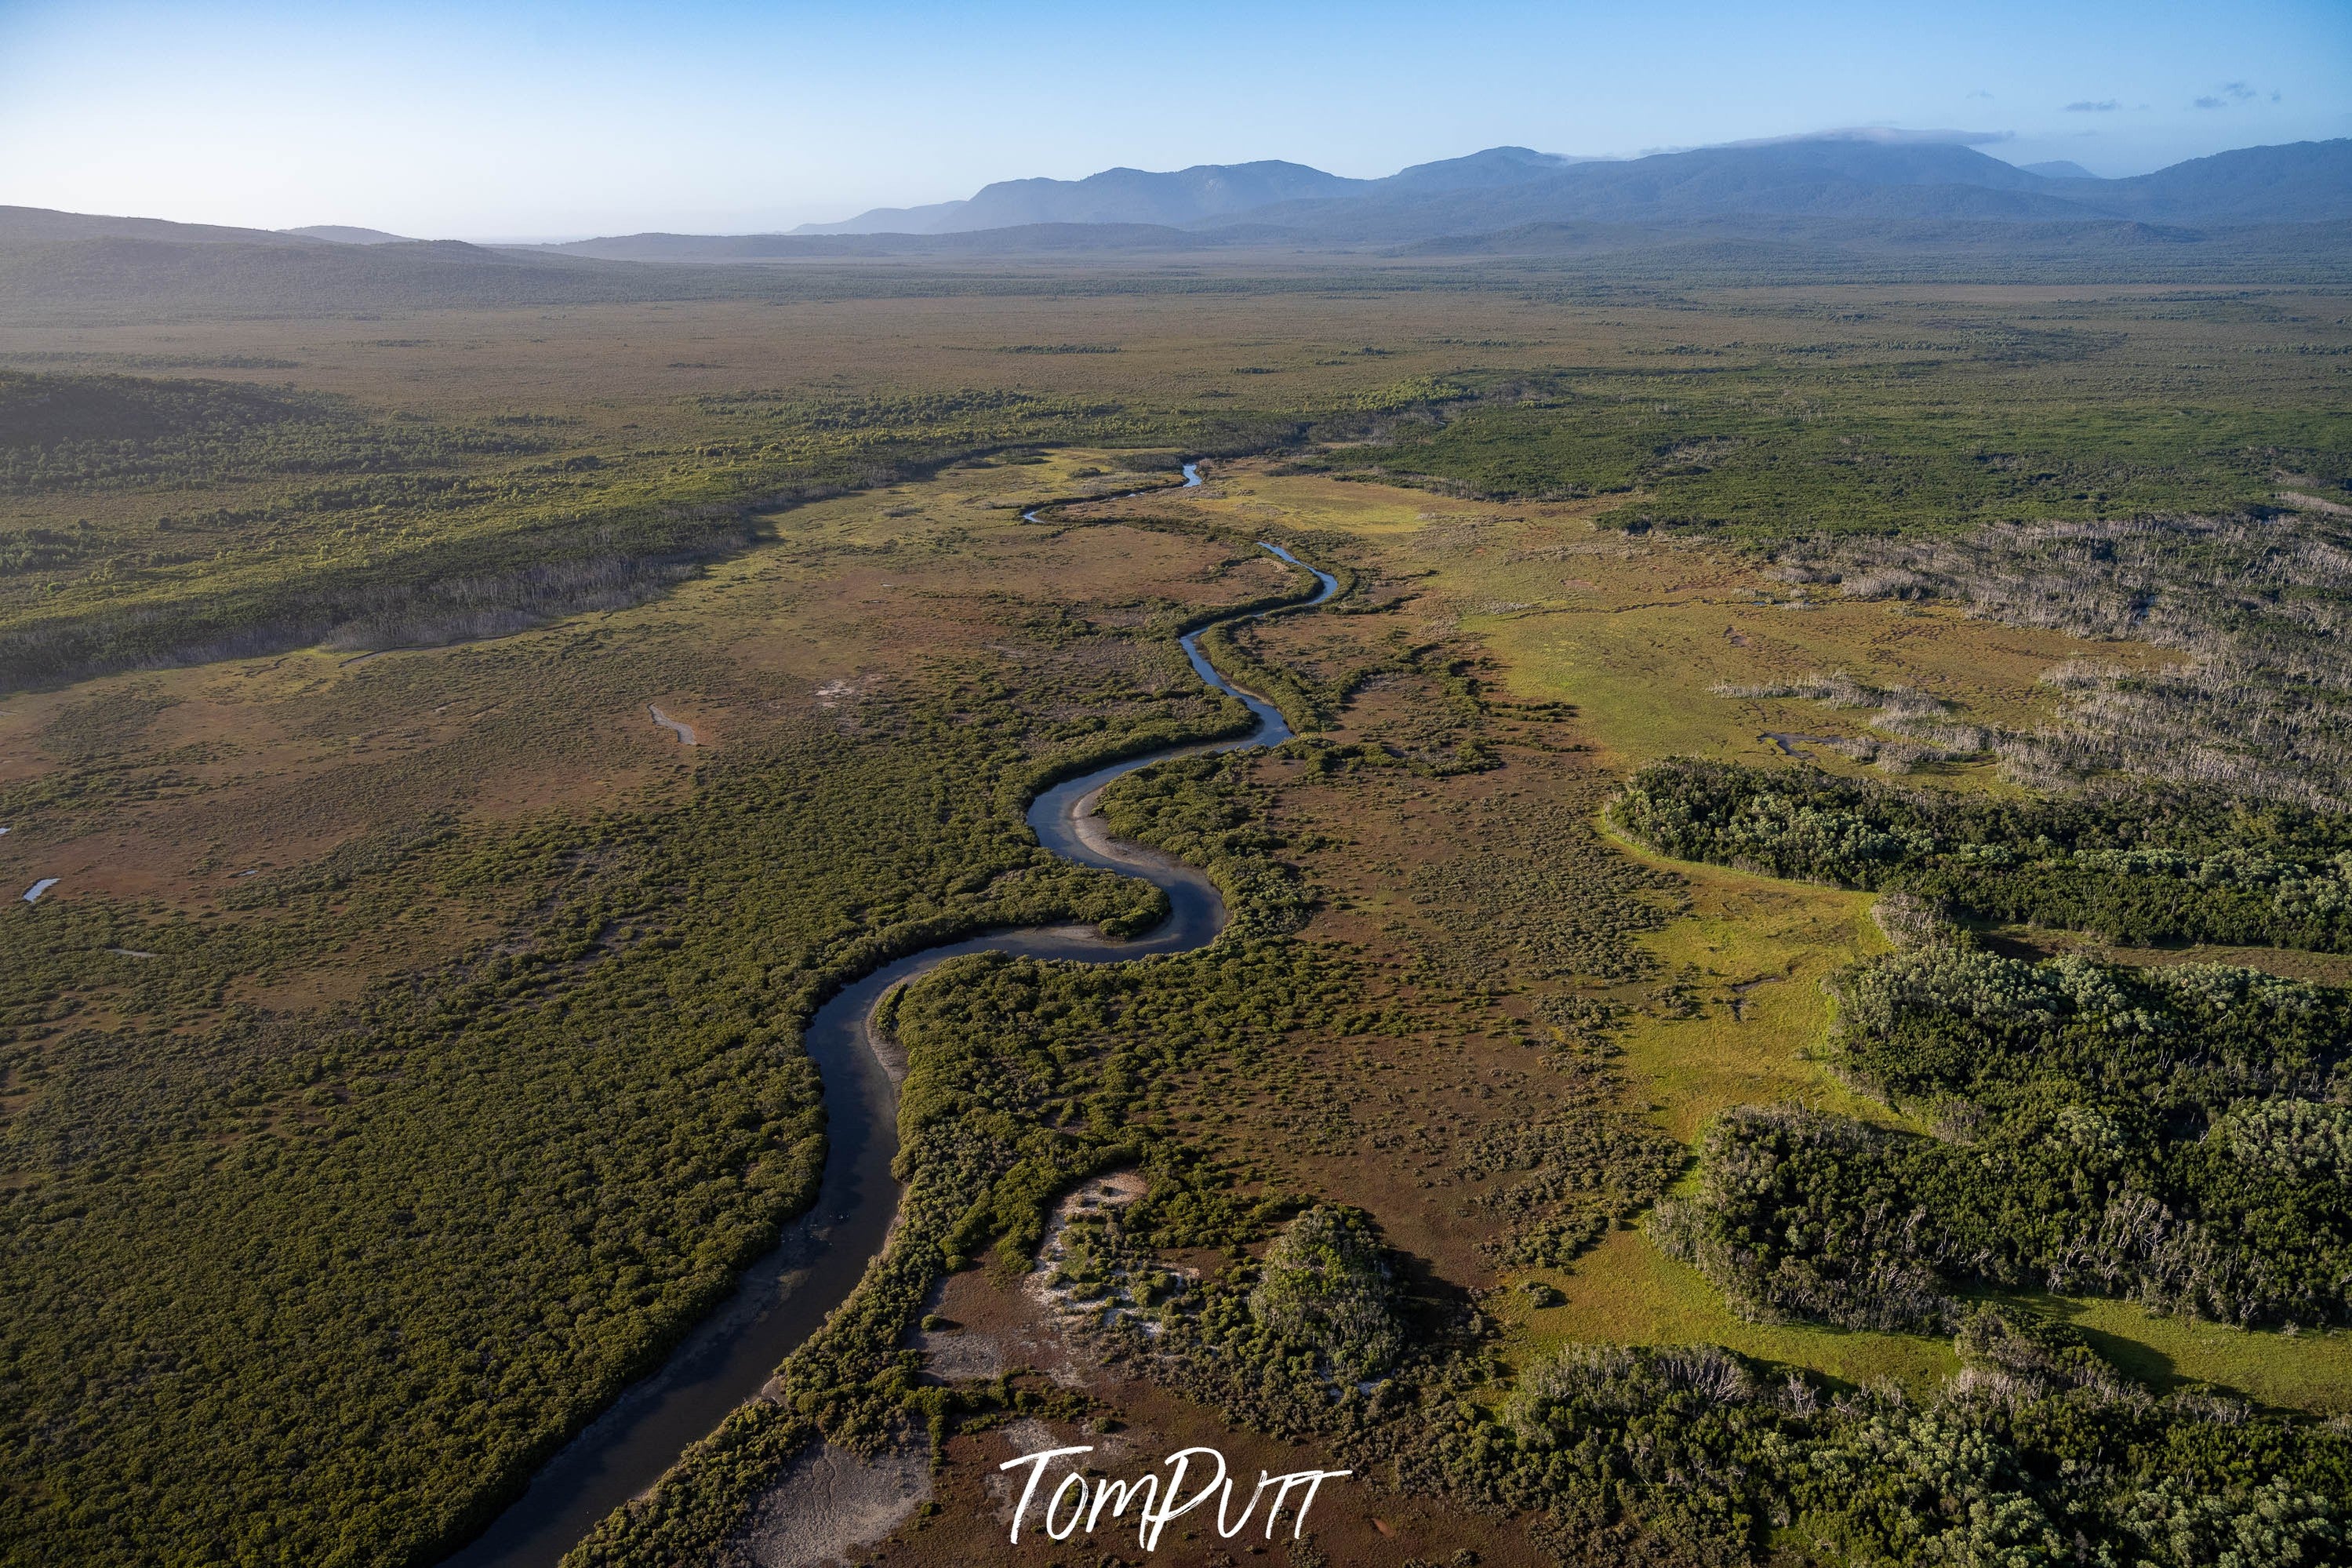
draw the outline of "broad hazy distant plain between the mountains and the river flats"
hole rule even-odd
[[[0,367],[101,381],[0,388],[0,656],[38,679],[513,630],[659,592],[762,501],[1007,444],[1315,430],[1362,473],[1757,538],[2227,508],[2336,487],[2352,449],[2328,294],[1183,282],[7,324]]]

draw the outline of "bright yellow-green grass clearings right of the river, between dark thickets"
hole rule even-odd
[[[1218,484],[1197,505],[1265,529],[1362,541],[1385,581],[1414,595],[1397,614],[1414,618],[1423,635],[1449,635],[1484,651],[1496,693],[1573,705],[1557,738],[1590,748],[1578,764],[1597,780],[1663,755],[1769,762],[1780,748],[1766,731],[1863,729],[1844,712],[1799,698],[1719,696],[1719,684],[1759,686],[1842,668],[1879,686],[1912,686],[1978,722],[2030,726],[2056,710],[2056,693],[2037,686],[2042,670],[2093,651],[2058,632],[2002,628],[1943,609],[1889,616],[1882,604],[1835,599],[1788,609],[1790,590],[1755,559],[1693,541],[1628,538],[1588,522],[1583,503],[1402,496],[1237,463],[1218,470]],[[2096,644],[2096,654],[2112,663],[2161,661],[2154,649],[2119,642]],[[1348,733],[1341,729],[1334,738]],[[1832,771],[1867,771],[1835,752],[1823,752],[1820,762]],[[1501,778],[1529,766],[1545,764],[1512,755]],[[1990,766],[1936,766],[1915,780],[2009,788]],[[1416,837],[1435,835],[1418,830]],[[1611,844],[1628,858],[1668,865]],[[1642,985],[1611,987],[1635,1004],[1616,1037],[1613,1065],[1625,1093],[1686,1143],[1696,1143],[1710,1117],[1740,1103],[1795,1100],[1891,1119],[1823,1067],[1832,1006],[1823,980],[1886,950],[1870,919],[1872,898],[1708,865],[1675,863],[1672,872],[1686,891],[1684,912],[1637,938],[1649,957]],[[2312,978],[2340,973],[2326,954],[2272,950],[2145,957],[2230,957],[2281,973],[2314,969]],[[1745,1324],[1693,1269],[1658,1255],[1632,1229],[1611,1232],[1569,1272],[1529,1276],[1555,1284],[1564,1300],[1538,1309],[1524,1298],[1503,1298],[1498,1312],[1517,1328],[1512,1356],[1519,1359],[1562,1340],[1691,1340],[1839,1380],[1891,1375],[1922,1387],[1957,1366],[1945,1340]],[[2107,1300],[2070,1300],[2063,1309],[2159,1380],[2213,1382],[2314,1410],[2352,1406],[2352,1366],[2343,1359],[2352,1340],[2345,1335],[2246,1335],[2147,1319]]]

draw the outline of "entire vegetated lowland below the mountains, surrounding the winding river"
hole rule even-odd
[[[906,1338],[1108,1168],[1148,1192],[1051,1281],[1089,1354],[1562,1561],[2340,1561],[2343,1389],[2258,1408],[2060,1319],[2326,1352],[2345,992],[1990,929],[2345,950],[2343,299],[1414,277],[12,329],[0,865],[92,870],[0,919],[0,1554],[407,1563],[487,1519],[807,1201],[828,987],[1152,914],[1018,809],[1230,729],[1174,635],[1275,592],[1268,536],[1350,592],[1207,644],[1303,736],[1105,802],[1228,936],[903,992],[889,1251],[579,1561],[734,1549],[818,1439],[1120,1420]],[[1077,503],[1242,451],[1263,484]],[[1642,604],[1698,578],[1722,668],[1661,670]],[[1531,651],[1576,595],[1719,755],[1618,766],[1651,731]],[[1851,632],[1879,599],[1962,651]],[[2117,642],[1999,724],[1947,682],[1882,741],[1980,733],[1882,783],[1724,762],[1858,689],[1755,616],[1884,658],[1875,701],[1994,621],[2187,663]],[[644,752],[647,701],[713,743]],[[1896,952],[1835,947],[1832,1039],[1670,860],[1875,891]],[[1665,957],[1693,922],[1715,971]],[[1757,985],[1804,1105],[1686,1095],[1661,1053]],[[1785,1349],[1543,1328],[1649,1237]],[[1964,1371],[1849,1378],[1832,1328]]]

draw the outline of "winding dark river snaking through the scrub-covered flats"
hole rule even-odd
[[[1183,465],[1183,487],[1200,484],[1200,468]],[[1150,494],[1150,491],[1134,491]],[[1105,496],[1110,498],[1110,496]],[[1028,522],[1037,512],[1023,512]],[[1319,590],[1305,604],[1338,592],[1327,571],[1305,567],[1282,545],[1261,545],[1312,571]],[[1275,611],[1258,611],[1275,614]],[[1251,616],[1235,616],[1251,618]],[[1207,630],[1207,628],[1202,628]],[[1291,726],[1282,712],[1221,677],[1200,651],[1200,632],[1183,637],[1192,670],[1240,698],[1256,717],[1240,741],[1174,745],[1070,778],[1040,795],[1028,811],[1037,842],[1082,865],[1145,877],[1169,898],[1169,917],[1150,933],[1110,940],[1091,926],[988,931],[962,943],[924,947],[840,990],[809,1020],[807,1048],[826,1081],[826,1175],[816,1204],[783,1229],[776,1248],[743,1272],[734,1295],[670,1354],[661,1371],[633,1385],[586,1432],[548,1460],[522,1493],[447,1568],[548,1568],[604,1514],[649,1488],[677,1455],[708,1436],[729,1410],[755,1396],[781,1363],[826,1321],[882,1251],[898,1211],[891,1157],[898,1152],[898,1091],[868,1018],[894,985],[913,980],[967,952],[1011,952],[1075,964],[1120,964],[1157,952],[1207,947],[1225,926],[1225,900],[1190,865],[1110,837],[1094,813],[1103,785],[1122,773],[1247,745],[1279,745]]]

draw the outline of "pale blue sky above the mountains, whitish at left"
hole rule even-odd
[[[2098,174],[2352,136],[2352,2],[0,0],[0,202],[266,228],[762,230],[1110,165],[1851,125]]]

